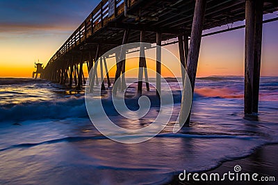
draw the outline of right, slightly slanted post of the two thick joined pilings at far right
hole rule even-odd
[[[258,113],[259,89],[261,76],[261,41],[263,35],[263,0],[255,4],[255,42],[254,42],[254,73],[253,73],[253,105],[252,112]]]

